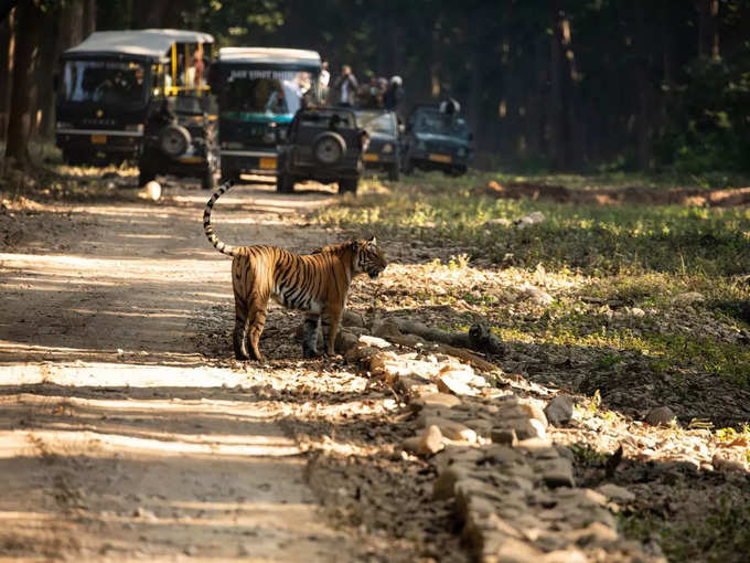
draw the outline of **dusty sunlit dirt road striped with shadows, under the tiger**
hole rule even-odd
[[[207,193],[88,195],[0,208],[0,561],[464,560],[429,468],[394,450],[388,390],[302,361],[282,309],[267,364],[232,359]],[[306,251],[338,240],[300,213],[332,198],[242,185],[213,219]]]

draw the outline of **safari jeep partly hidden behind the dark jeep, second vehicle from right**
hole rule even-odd
[[[363,157],[365,169],[385,170],[388,180],[398,180],[401,147],[396,114],[383,109],[357,109],[356,118],[360,127],[369,135],[369,145]]]

